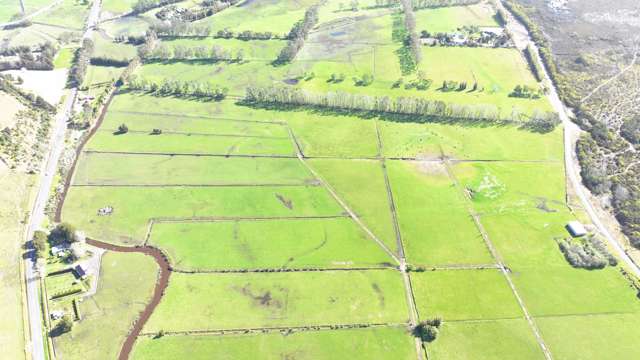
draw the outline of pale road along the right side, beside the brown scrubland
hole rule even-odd
[[[502,1],[497,2],[499,7],[505,11],[505,13],[509,14],[509,11],[504,8]],[[524,26],[517,22],[513,16],[509,16],[509,21],[507,27],[511,32],[515,35],[514,41],[516,42],[516,46],[520,49],[526,47],[527,45],[531,45],[531,47],[538,52],[539,50],[536,44],[529,37]],[[526,34],[524,36],[520,36],[522,34]],[[626,267],[633,272],[636,276],[640,277],[640,268],[636,265],[633,260],[627,255],[627,252],[624,250],[624,247],[616,240],[612,235],[609,229],[604,225],[604,222],[598,216],[593,204],[589,199],[587,194],[587,190],[582,186],[582,182],[580,181],[580,176],[578,175],[576,169],[579,168],[577,164],[576,156],[575,156],[575,148],[573,139],[578,136],[581,132],[580,128],[574,124],[569,117],[569,110],[564,106],[564,103],[560,100],[560,96],[558,96],[558,91],[554,86],[549,74],[547,73],[547,69],[542,64],[542,61],[538,59],[538,63],[540,68],[543,71],[544,82],[548,84],[549,88],[549,101],[553,106],[554,110],[560,116],[560,120],[562,120],[562,124],[564,125],[564,163],[567,172],[567,177],[571,182],[571,185],[576,193],[576,196],[580,199],[582,203],[582,207],[589,214],[591,218],[591,222],[596,226],[598,231],[607,239],[607,242],[611,245],[611,247],[615,250],[618,257],[625,263]]]

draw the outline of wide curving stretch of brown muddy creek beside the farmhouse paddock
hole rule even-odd
[[[169,261],[164,256],[164,254],[157,248],[151,246],[141,246],[141,247],[128,247],[128,246],[119,246],[108,244],[102,241],[87,239],[87,244],[91,246],[95,246],[100,249],[109,250],[109,251],[117,251],[117,252],[125,252],[125,253],[141,253],[145,255],[149,255],[153,257],[153,259],[158,263],[158,267],[160,268],[160,272],[158,274],[158,281],[156,282],[156,286],[153,289],[153,296],[151,297],[151,301],[147,304],[147,306],[142,310],[138,319],[134,322],[133,328],[127,335],[127,338],[122,344],[122,348],[120,349],[120,355],[118,355],[119,360],[126,360],[129,358],[131,354],[131,350],[133,349],[133,345],[138,338],[138,335],[142,332],[142,328],[144,324],[149,320],[153,310],[155,310],[156,306],[160,303],[162,299],[162,295],[164,294],[164,290],[169,285],[169,276],[171,275],[171,266],[169,265]]]

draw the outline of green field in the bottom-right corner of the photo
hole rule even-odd
[[[537,318],[554,359],[637,359],[638,314]]]

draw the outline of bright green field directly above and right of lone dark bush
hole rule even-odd
[[[524,316],[498,269],[414,272],[411,284],[424,319],[440,316],[446,323]]]

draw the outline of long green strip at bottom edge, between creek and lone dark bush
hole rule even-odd
[[[140,338],[134,360],[333,360],[416,358],[413,339],[404,328],[385,327],[339,331],[260,335],[164,336]]]

